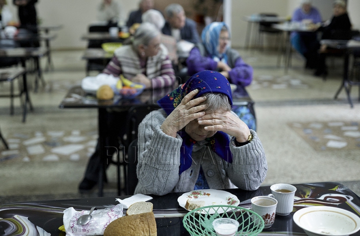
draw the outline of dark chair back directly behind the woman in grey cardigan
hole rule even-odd
[[[133,195],[138,179],[136,174],[137,166],[137,138],[132,140],[127,148],[127,170],[126,170],[126,195]]]

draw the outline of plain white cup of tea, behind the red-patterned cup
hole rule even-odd
[[[270,186],[272,196],[277,200],[276,214],[287,216],[292,212],[296,188],[289,184],[274,184]]]

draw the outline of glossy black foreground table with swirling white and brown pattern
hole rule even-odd
[[[306,236],[304,231],[293,222],[293,214],[312,206],[328,206],[344,209],[360,217],[360,197],[346,186],[336,182],[318,182],[292,184],[296,187],[293,210],[287,216],[275,216],[274,224],[269,229],[263,229],[260,236]],[[206,192],[206,190],[199,190]],[[261,186],[254,191],[241,189],[226,189],[239,200],[238,207],[250,209],[250,200],[256,196],[266,196],[271,193],[270,186]],[[179,197],[184,193],[168,193],[163,196],[148,195],[153,205],[157,236],[189,236],[183,226],[183,218],[189,212],[180,207]],[[10,203],[0,206],[0,234],[4,236],[19,235],[51,235],[65,236],[60,231],[63,225],[63,211],[74,208],[76,211],[88,211],[110,208],[118,204],[116,199],[126,199],[130,196],[113,196],[102,198],[81,198],[66,200],[31,201]],[[125,209],[123,209],[125,215]],[[82,236],[86,236],[83,232]],[[359,236],[360,232],[352,236]]]

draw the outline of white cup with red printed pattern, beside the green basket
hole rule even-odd
[[[268,196],[257,196],[251,199],[252,211],[265,222],[264,229],[270,228],[275,222],[277,200]]]

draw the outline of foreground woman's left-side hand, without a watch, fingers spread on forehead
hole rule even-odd
[[[199,104],[205,101],[206,98],[201,96],[191,100],[197,93],[198,90],[195,89],[181,100],[181,103],[166,117],[160,126],[162,132],[175,138],[177,131],[185,127],[190,121],[205,115],[202,110],[205,109],[206,105]]]

